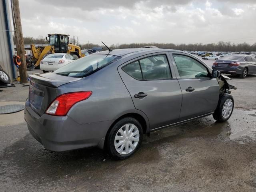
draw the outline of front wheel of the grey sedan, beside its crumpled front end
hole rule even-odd
[[[233,109],[234,109],[234,99],[232,95],[227,93],[222,93],[220,94],[220,97],[219,97],[218,106],[214,111],[214,114],[212,114],[212,116],[217,122],[225,122],[231,117]]]

